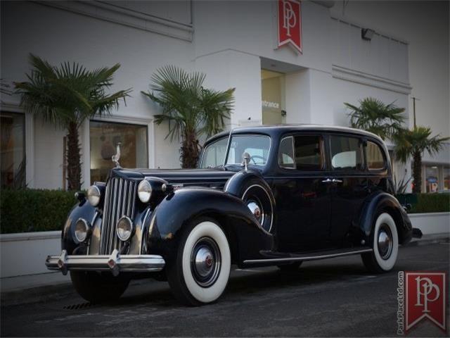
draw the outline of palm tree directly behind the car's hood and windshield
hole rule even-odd
[[[186,73],[173,65],[159,68],[151,80],[152,92],[142,94],[162,108],[162,114],[155,115],[155,122],[160,125],[168,121],[166,137],[171,141],[181,137],[181,167],[195,168],[201,149],[198,138],[224,129],[233,108],[234,88],[224,92],[205,89],[205,74]]]

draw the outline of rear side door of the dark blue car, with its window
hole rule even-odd
[[[330,134],[333,246],[350,246],[361,238],[358,217],[368,196],[364,143],[358,135]]]

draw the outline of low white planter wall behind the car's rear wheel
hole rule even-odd
[[[423,234],[450,233],[450,213],[410,213],[409,219]]]

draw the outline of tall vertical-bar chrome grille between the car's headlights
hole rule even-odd
[[[109,255],[114,249],[121,249],[120,239],[115,234],[115,225],[122,216],[134,219],[134,204],[138,182],[112,177],[108,181],[101,225],[100,252]]]

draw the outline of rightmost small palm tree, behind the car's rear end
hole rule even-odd
[[[433,156],[442,149],[443,142],[450,137],[439,138],[439,134],[430,137],[429,127],[415,126],[413,130],[400,130],[394,135],[395,156],[406,163],[408,158],[413,158],[413,192],[420,193],[422,189],[422,153],[428,151]]]

